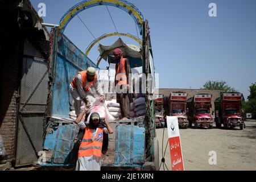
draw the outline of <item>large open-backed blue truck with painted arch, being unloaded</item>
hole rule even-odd
[[[63,18],[60,26],[51,32],[51,56],[49,60],[49,97],[46,125],[44,125],[44,152],[46,161],[41,166],[74,166],[77,160],[76,136],[79,127],[69,119],[69,84],[77,72],[88,67],[99,68],[89,57],[64,35],[68,22],[80,11],[93,6],[114,6],[129,13],[137,22],[142,35],[141,58],[134,59],[133,65],[143,65],[143,73],[152,76],[154,63],[150,42],[148,21],[141,12],[127,1],[82,1],[73,6]],[[115,34],[114,34],[115,35]],[[100,39],[104,38],[102,36]],[[92,45],[96,44],[95,40]],[[114,49],[116,47],[113,47]],[[108,53],[110,54],[111,51]],[[113,52],[113,51],[112,51]],[[105,56],[110,56],[105,54]],[[139,168],[157,170],[159,168],[158,140],[155,133],[154,87],[147,82],[146,114],[128,121],[110,122],[114,134],[109,135],[108,151],[102,157],[102,168]],[[151,86],[148,86],[150,84]],[[79,148],[79,146],[78,146]]]

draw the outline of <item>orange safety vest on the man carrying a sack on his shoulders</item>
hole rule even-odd
[[[92,139],[92,129],[89,127],[85,128],[84,138],[80,144],[79,154],[78,157],[85,157],[85,156],[97,156],[101,158],[101,151],[102,151],[102,143],[103,143],[103,129],[98,128],[98,131],[95,135],[95,138]]]

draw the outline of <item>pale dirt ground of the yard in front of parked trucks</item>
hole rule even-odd
[[[159,159],[162,159],[163,129],[157,129],[159,140]],[[246,121],[246,128],[218,129],[180,129],[184,168],[187,171],[212,170],[256,170],[256,121]],[[164,132],[163,151],[168,140]],[[209,164],[209,152],[217,154],[217,164]],[[170,148],[164,156],[168,170],[171,170]],[[161,161],[160,161],[161,163]],[[159,163],[159,165],[160,165]],[[163,164],[160,168],[163,170]],[[166,167],[165,167],[165,170]]]

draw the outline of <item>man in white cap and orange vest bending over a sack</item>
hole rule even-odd
[[[81,101],[84,101],[86,106],[89,106],[95,100],[93,92],[90,89],[92,85],[96,89],[97,94],[100,95],[101,102],[104,102],[104,93],[98,81],[96,69],[93,67],[89,67],[86,71],[77,73],[69,86],[77,116],[80,115]]]

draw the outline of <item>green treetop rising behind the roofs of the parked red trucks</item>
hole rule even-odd
[[[205,90],[222,90],[224,92],[237,92],[236,89],[228,86],[225,81],[207,81],[203,88]]]

